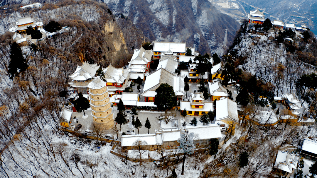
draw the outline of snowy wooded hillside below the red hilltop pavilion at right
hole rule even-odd
[[[268,40],[268,36],[277,36],[273,32],[268,34],[248,32],[250,32],[249,26],[245,28],[245,33],[242,28],[235,40],[236,45],[229,50],[228,55],[236,59],[239,68],[243,71],[256,75],[266,83],[271,83],[274,86],[275,96],[296,92],[296,81],[302,75],[316,71],[316,66],[300,60],[301,52],[314,48],[315,42],[304,45],[300,52],[289,52],[286,46],[289,43]],[[299,48],[303,40],[299,37],[294,39],[294,46]]]

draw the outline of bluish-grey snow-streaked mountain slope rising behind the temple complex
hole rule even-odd
[[[240,27],[235,19],[221,14],[208,1],[103,2],[113,14],[123,14],[133,21],[151,41],[186,42],[200,53],[223,54],[225,29],[228,28],[227,46],[230,46]]]

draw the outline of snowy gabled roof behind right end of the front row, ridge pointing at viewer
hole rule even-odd
[[[237,103],[229,98],[216,101],[216,120],[218,121],[226,118],[235,121],[239,120]]]

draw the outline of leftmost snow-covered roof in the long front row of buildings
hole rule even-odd
[[[138,135],[122,135],[121,146],[134,146],[134,142],[137,140],[146,141],[146,145],[155,145],[155,134],[138,134]]]

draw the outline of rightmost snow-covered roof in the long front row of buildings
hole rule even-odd
[[[207,126],[186,126],[189,133],[194,133],[194,140],[221,138],[220,126],[209,124]]]

